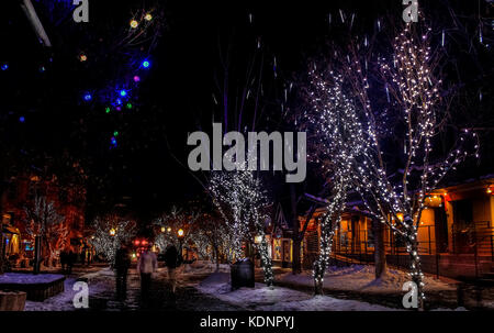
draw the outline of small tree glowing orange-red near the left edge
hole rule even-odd
[[[32,237],[41,236],[47,252],[45,263],[52,266],[57,253],[68,241],[68,227],[65,217],[58,212],[55,203],[44,196],[34,198],[34,202],[24,207],[26,215],[26,232]]]

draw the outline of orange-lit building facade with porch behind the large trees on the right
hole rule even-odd
[[[418,225],[424,271],[452,278],[482,278],[494,273],[494,178],[435,190],[428,193],[425,203]],[[305,232],[302,244],[305,269],[312,269],[318,255],[318,221],[324,213],[324,208],[316,210]],[[375,240],[372,219],[364,210],[349,207],[334,237],[333,259],[372,264]],[[407,269],[409,258],[404,242],[388,226],[383,227],[382,240],[386,263]]]

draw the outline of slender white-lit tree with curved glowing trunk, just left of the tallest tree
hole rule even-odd
[[[314,289],[323,293],[323,280],[333,246],[333,236],[341,221],[351,173],[357,156],[367,149],[362,125],[355,106],[343,92],[343,78],[329,73],[310,71],[311,85],[306,91],[310,109],[304,114],[304,129],[312,137],[312,159],[322,163],[330,176],[332,198],[321,221],[319,256],[314,263]]]

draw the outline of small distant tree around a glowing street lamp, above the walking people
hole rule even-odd
[[[92,225],[94,234],[90,243],[94,246],[97,254],[102,254],[111,265],[115,260],[115,254],[121,244],[131,241],[137,233],[134,221],[115,214],[97,217]]]

